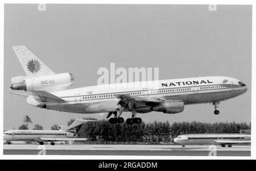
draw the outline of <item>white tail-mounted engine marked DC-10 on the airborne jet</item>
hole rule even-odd
[[[25,91],[59,91],[67,89],[74,82],[72,73],[61,73],[42,77],[14,77],[11,89]]]

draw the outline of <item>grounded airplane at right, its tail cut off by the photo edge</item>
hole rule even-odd
[[[232,144],[250,144],[250,130],[240,130],[240,134],[184,134],[174,139],[174,143],[182,144],[220,144],[221,147],[232,147]]]

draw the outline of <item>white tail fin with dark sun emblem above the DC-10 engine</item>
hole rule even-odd
[[[25,45],[14,46],[13,50],[27,76],[38,77],[55,74],[51,68],[44,64]]]

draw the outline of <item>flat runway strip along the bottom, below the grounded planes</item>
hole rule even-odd
[[[44,145],[46,155],[208,156],[209,145]],[[36,144],[3,145],[3,155],[38,155]],[[219,147],[217,156],[250,156],[250,146]]]

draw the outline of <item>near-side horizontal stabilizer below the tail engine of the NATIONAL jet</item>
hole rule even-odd
[[[61,99],[56,95],[48,93],[47,91],[33,91],[33,94],[38,96],[43,102],[60,102],[60,103],[66,102],[64,101],[64,99]]]

